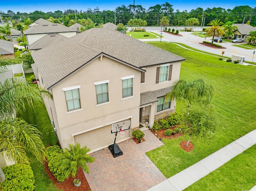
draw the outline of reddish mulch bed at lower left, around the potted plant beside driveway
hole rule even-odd
[[[86,180],[86,177],[84,176],[84,172],[82,171],[81,168],[78,169],[76,178],[79,178],[81,180],[81,185],[79,187],[74,186],[74,178],[71,176],[66,179],[64,182],[59,183],[57,179],[53,176],[52,172],[48,168],[48,163],[45,161],[44,162],[44,169],[46,173],[48,174],[49,178],[54,182],[56,187],[63,191],[90,191],[90,186]]]

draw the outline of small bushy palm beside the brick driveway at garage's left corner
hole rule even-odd
[[[78,167],[81,167],[86,173],[90,172],[90,169],[86,163],[93,163],[94,158],[88,156],[89,148],[84,146],[80,148],[80,144],[77,143],[75,146],[69,144],[69,149],[64,148],[63,158],[60,159],[60,167],[67,169],[65,177],[68,178],[70,175],[74,178],[78,172]]]

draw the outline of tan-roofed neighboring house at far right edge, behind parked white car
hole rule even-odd
[[[238,29],[233,32],[234,39],[243,38],[244,42],[248,42],[248,38],[250,37],[249,33],[251,31],[256,31],[256,27],[250,26],[248,24],[234,24],[234,25],[238,27]]]

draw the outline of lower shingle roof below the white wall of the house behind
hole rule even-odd
[[[60,35],[60,34],[48,34],[44,37],[40,38],[38,41],[35,41],[33,44],[28,46],[30,50],[38,50],[54,43],[57,43],[61,40],[67,39],[67,37]]]

